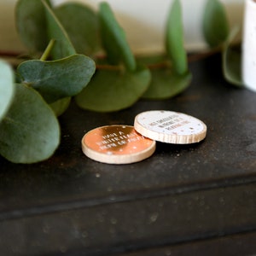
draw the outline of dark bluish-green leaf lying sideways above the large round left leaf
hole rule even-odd
[[[95,62],[85,55],[58,61],[24,61],[17,68],[22,84],[32,87],[52,103],[77,95],[95,73]]]

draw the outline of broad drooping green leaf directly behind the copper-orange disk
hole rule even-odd
[[[133,105],[148,89],[150,72],[145,67],[137,71],[97,70],[90,84],[75,97],[80,108],[112,112]]]

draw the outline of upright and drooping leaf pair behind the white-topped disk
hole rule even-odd
[[[178,0],[172,3],[167,17],[166,55],[151,56],[138,61],[152,67],[152,81],[143,95],[144,98],[170,98],[189,86],[192,74],[189,72],[187,54],[183,47],[182,11]]]

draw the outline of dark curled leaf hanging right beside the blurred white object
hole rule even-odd
[[[243,87],[243,81],[241,77],[241,45],[232,45],[234,38],[236,38],[239,28],[234,27],[228,39],[224,44],[224,50],[222,53],[224,78],[238,87]]]

